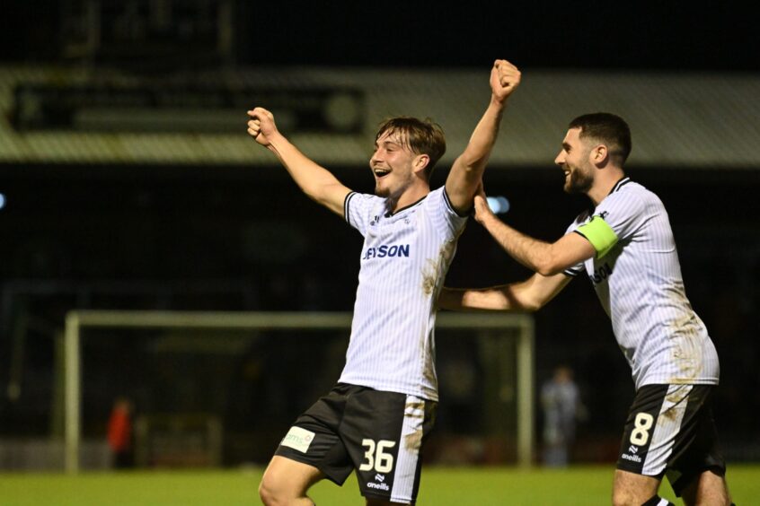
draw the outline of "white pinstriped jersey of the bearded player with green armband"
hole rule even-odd
[[[597,255],[565,274],[585,271],[594,284],[636,388],[718,384],[718,354],[686,298],[673,231],[658,196],[621,179],[593,213],[576,218],[570,232],[587,237]]]

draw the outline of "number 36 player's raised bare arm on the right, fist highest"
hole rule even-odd
[[[499,134],[499,124],[508,96],[520,83],[520,71],[507,60],[496,60],[490,69],[490,103],[470,142],[454,162],[446,179],[446,194],[456,211],[465,214],[473,208],[473,196]]]

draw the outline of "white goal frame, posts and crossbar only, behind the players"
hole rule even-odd
[[[75,310],[66,314],[65,375],[65,467],[80,468],[82,438],[83,330],[87,328],[213,328],[244,330],[345,330],[349,312],[198,312],[140,310]],[[534,448],[534,320],[526,314],[449,313],[437,315],[437,330],[458,329],[487,332],[500,341],[515,339],[514,367],[517,408],[517,464],[529,467]],[[439,346],[445,340],[439,337]],[[498,352],[498,348],[497,351]],[[506,357],[505,357],[506,358]]]

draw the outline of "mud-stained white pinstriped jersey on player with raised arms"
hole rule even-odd
[[[395,213],[349,193],[346,221],[364,236],[340,382],[437,401],[436,301],[464,231],[444,187]]]

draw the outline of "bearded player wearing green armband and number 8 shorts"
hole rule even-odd
[[[593,207],[553,243],[501,222],[481,188],[475,219],[535,275],[485,289],[445,289],[439,305],[538,310],[571,279],[588,276],[636,388],[614,475],[614,504],[667,504],[658,496],[667,475],[686,504],[728,506],[726,463],[711,408],[718,353],[686,298],[665,206],[623,170],[631,147],[628,124],[614,114],[570,122],[554,162],[564,173],[565,192],[588,196]]]

